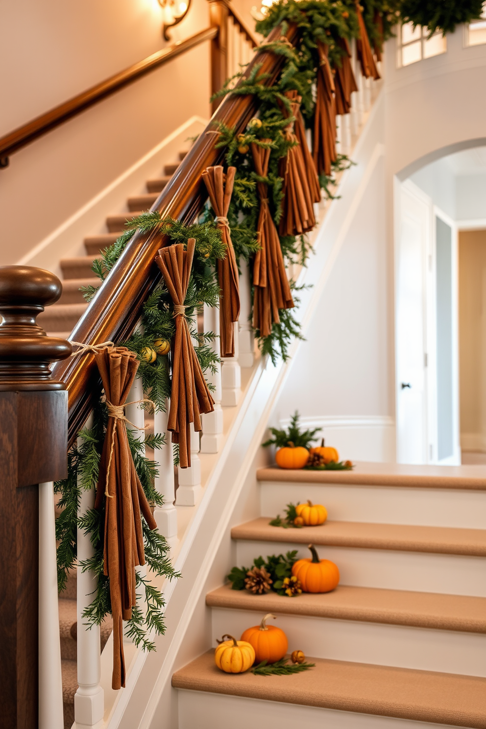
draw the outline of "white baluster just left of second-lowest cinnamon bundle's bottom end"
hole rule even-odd
[[[154,519],[157,528],[169,547],[173,550],[179,544],[177,538],[177,509],[174,506],[176,499],[176,486],[174,483],[174,457],[171,436],[167,430],[168,402],[165,402],[166,412],[162,410],[154,414],[154,433],[165,433],[165,445],[154,448],[154,461],[157,463],[159,475],[155,477],[155,488],[163,496],[163,506],[154,509]]]

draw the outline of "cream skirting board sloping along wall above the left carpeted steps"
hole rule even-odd
[[[189,149],[188,138],[203,131],[206,125],[207,120],[195,116],[173,130],[20,258],[17,264],[46,268],[60,276],[60,259],[85,255],[83,238],[86,235],[106,233],[106,216],[126,211],[127,198],[130,195],[144,194],[147,179],[161,176],[164,164],[178,161],[179,152]]]

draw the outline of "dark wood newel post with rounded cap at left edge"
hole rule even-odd
[[[66,477],[68,393],[50,362],[71,345],[36,316],[60,297],[59,279],[0,267],[0,725],[38,727],[39,483]]]

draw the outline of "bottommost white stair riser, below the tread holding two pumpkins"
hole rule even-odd
[[[287,676],[286,679],[291,692],[292,677]],[[458,729],[452,725],[339,712],[296,703],[205,691],[177,691],[179,729],[248,729],[251,726],[266,729]]]

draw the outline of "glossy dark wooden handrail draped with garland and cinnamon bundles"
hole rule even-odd
[[[280,36],[281,28],[275,28],[269,41]],[[296,26],[290,26],[287,38],[292,44],[296,42]],[[265,84],[273,84],[283,65],[283,56],[268,51],[256,54],[246,70],[246,76],[256,61],[262,64],[262,74],[268,74]],[[224,149],[214,147],[214,122],[222,121],[240,132],[246,128],[256,108],[257,102],[253,95],[227,95],[213,114],[208,127],[195,141],[170,182],[160,193],[152,210],[158,210],[162,217],[170,215],[186,224],[194,222],[207,198],[207,192],[203,190],[204,185],[201,183],[201,174],[209,165],[219,164],[224,160]],[[106,340],[119,342],[133,333],[146,297],[160,281],[160,271],[154,264],[154,258],[162,245],[163,241],[157,231],[133,235],[79,319],[72,332],[72,340],[90,344]],[[85,423],[100,391],[93,354],[74,356],[58,362],[52,368],[52,376],[66,383],[69,392],[68,440],[71,444]]]

